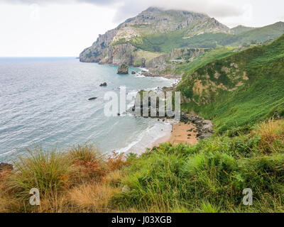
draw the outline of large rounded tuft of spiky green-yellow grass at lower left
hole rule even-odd
[[[74,171],[71,160],[55,150],[45,152],[41,148],[28,150],[29,155],[15,162],[15,174],[10,185],[16,194],[28,196],[32,188],[41,194],[60,191],[70,187],[70,175]]]

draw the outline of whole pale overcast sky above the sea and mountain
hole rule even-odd
[[[77,57],[150,6],[207,13],[230,28],[284,21],[283,0],[0,0],[0,56]]]

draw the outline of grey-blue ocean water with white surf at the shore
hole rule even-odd
[[[104,116],[104,94],[125,86],[135,96],[140,89],[169,87],[173,79],[116,72],[74,57],[0,58],[0,162],[37,146],[65,150],[92,143],[103,153],[141,153],[168,135],[170,124],[156,119]],[[99,87],[103,82],[108,86]]]

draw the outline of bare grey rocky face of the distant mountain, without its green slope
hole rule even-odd
[[[165,62],[168,55],[160,55],[157,59],[154,59],[157,56],[141,56],[138,52],[139,48],[131,44],[131,39],[180,30],[185,30],[184,38],[202,33],[229,33],[229,28],[202,13],[164,11],[151,7],[138,16],[129,18],[117,28],[107,31],[104,35],[99,35],[97,41],[80,54],[80,61],[110,65],[126,63],[136,67],[151,66],[153,68],[157,62],[160,67],[160,62]]]

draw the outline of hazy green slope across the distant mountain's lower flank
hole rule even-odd
[[[131,44],[151,52],[170,52],[173,48],[216,48],[217,45],[243,45],[249,43],[263,43],[267,40],[278,38],[284,33],[284,23],[279,22],[263,28],[254,28],[249,31],[229,35],[224,33],[204,33],[184,38],[187,28],[170,33],[158,33],[153,35],[142,35],[131,40]],[[119,40],[114,43],[126,43]]]

